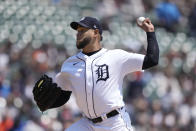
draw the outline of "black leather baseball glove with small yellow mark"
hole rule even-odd
[[[34,100],[42,112],[52,107],[60,94],[61,88],[47,75],[43,75],[33,88]]]

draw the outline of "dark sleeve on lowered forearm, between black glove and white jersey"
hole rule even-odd
[[[56,102],[50,107],[50,108],[56,108],[64,105],[70,98],[71,96],[71,91],[64,91],[61,90],[61,94],[59,98],[56,100]]]

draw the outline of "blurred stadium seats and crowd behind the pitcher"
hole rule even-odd
[[[156,68],[125,78],[124,99],[136,131],[196,131],[195,0],[1,0],[0,131],[62,131],[81,117],[74,97],[43,114],[32,88],[78,52],[73,20],[103,23],[105,48],[145,53],[146,35],[136,25],[149,17],[156,28]]]

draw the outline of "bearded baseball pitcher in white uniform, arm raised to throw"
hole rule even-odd
[[[66,131],[133,131],[123,102],[123,78],[158,64],[153,24],[148,18],[138,24],[147,34],[145,55],[103,48],[102,27],[96,18],[84,17],[70,26],[77,31],[76,46],[81,52],[65,60],[56,82],[47,75],[36,82],[33,94],[39,109],[62,106],[73,93],[83,118]]]

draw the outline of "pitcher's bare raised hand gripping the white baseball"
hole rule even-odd
[[[142,28],[145,32],[154,32],[154,25],[151,23],[151,20],[149,18],[146,18],[142,25],[139,25],[137,22],[137,25]]]

